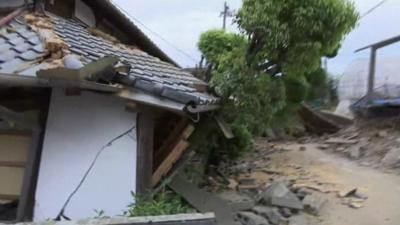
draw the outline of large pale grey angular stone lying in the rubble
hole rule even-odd
[[[303,203],[283,182],[275,182],[261,194],[262,202],[267,205],[303,209]]]

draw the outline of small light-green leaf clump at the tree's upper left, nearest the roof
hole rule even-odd
[[[223,30],[209,30],[201,34],[198,47],[207,62],[217,66],[223,55],[245,43],[245,39],[239,35]]]

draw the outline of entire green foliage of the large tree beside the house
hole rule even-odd
[[[210,122],[198,129],[203,137],[194,138],[201,140],[200,148],[215,158],[240,156],[253,135],[291,123],[300,102],[326,91],[325,75],[311,72],[322,56],[337,54],[358,17],[347,0],[244,0],[236,17],[241,35],[202,34],[199,49],[214,65],[211,85],[222,98],[219,114],[237,136],[226,140]],[[279,65],[283,77],[261,68],[269,61]]]

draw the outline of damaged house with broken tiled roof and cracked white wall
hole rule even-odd
[[[0,7],[0,221],[121,215],[218,98],[108,0]]]

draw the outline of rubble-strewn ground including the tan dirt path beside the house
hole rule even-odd
[[[280,224],[398,225],[399,138],[394,128],[361,126],[323,137],[259,139],[245,159],[217,168],[224,178],[210,177],[209,189],[232,202],[252,199],[241,205],[242,224],[274,224],[260,213],[267,206],[283,218]]]

